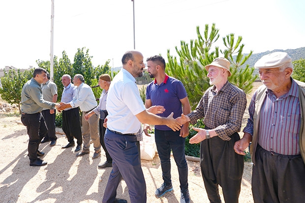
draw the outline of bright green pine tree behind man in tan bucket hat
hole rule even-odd
[[[244,44],[241,44],[242,37],[239,36],[235,41],[234,34],[231,33],[223,37],[223,44],[226,47],[223,51],[219,47],[212,50],[213,43],[215,43],[220,35],[219,29],[215,28],[215,24],[209,29],[209,25],[205,25],[204,34],[201,35],[199,26],[196,27],[197,39],[190,40],[190,43],[181,41],[180,49],[176,46],[176,52],[179,60],[170,55],[167,50],[168,63],[166,64],[166,71],[169,75],[180,80],[187,92],[192,109],[195,109],[204,91],[210,87],[209,78],[207,77],[207,70],[204,66],[210,64],[214,58],[219,57],[219,52],[225,58],[230,60],[230,71],[232,76],[228,78],[229,82],[240,87],[245,93],[249,93],[252,89],[252,83],[257,79],[257,75],[253,76],[254,68],[242,69],[246,60],[251,56],[252,51],[244,56]],[[237,55],[233,59],[233,55]]]

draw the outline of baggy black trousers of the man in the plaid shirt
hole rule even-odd
[[[235,153],[233,146],[240,140],[238,133],[224,141],[218,136],[200,145],[200,168],[211,203],[221,203],[218,185],[225,203],[238,203],[244,171],[244,156]]]

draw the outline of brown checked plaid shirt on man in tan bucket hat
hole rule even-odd
[[[217,93],[212,86],[200,99],[196,110],[188,114],[190,123],[203,119],[206,129],[214,129],[224,141],[231,140],[230,136],[241,130],[244,110],[247,104],[242,89],[227,82]]]

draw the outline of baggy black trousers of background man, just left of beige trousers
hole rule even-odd
[[[68,142],[74,144],[74,138],[77,145],[83,144],[82,128],[79,116],[79,108],[62,111],[62,130],[66,135]]]

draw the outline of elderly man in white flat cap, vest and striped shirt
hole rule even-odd
[[[254,67],[264,85],[252,96],[244,137],[234,150],[244,155],[252,141],[254,203],[304,203],[305,83],[291,78],[284,52],[263,56]]]

